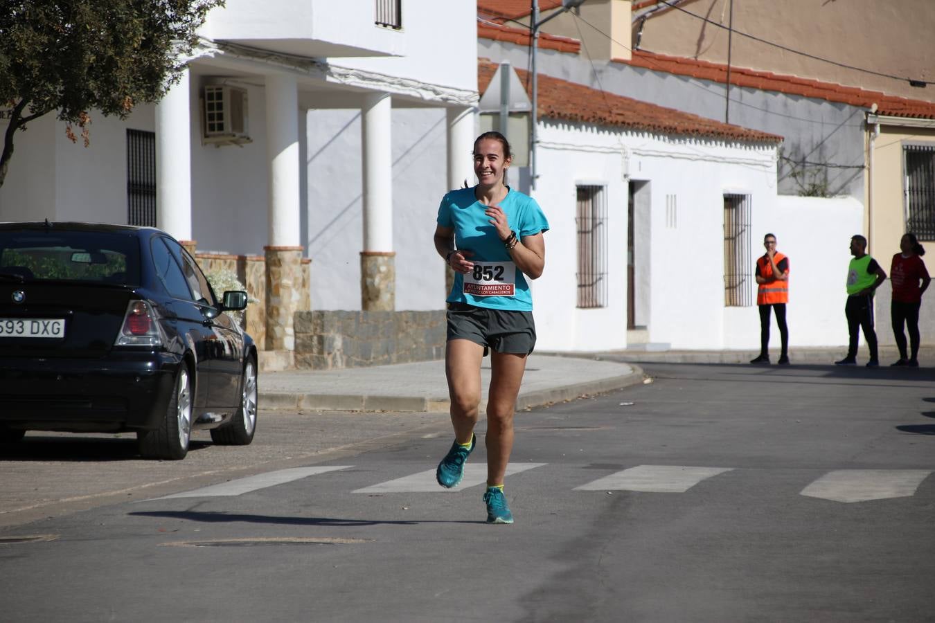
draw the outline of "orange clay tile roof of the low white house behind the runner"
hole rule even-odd
[[[484,92],[497,65],[478,62],[478,90]],[[529,92],[529,74],[516,69]],[[576,82],[539,74],[538,114],[554,120],[647,130],[659,134],[709,136],[727,140],[778,143],[782,136],[704,119],[681,110],[597,91]]]

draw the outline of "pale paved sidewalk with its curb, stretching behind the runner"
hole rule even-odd
[[[846,347],[790,349],[793,365],[831,365]],[[748,364],[754,350],[616,350],[597,353],[534,353],[529,356],[517,410],[572,400],[584,394],[623,389],[643,382],[643,363]],[[771,353],[772,360],[779,353]],[[881,367],[898,359],[896,347],[880,347]],[[861,347],[857,361],[867,361]],[[935,366],[935,347],[919,352],[924,367]],[[481,370],[482,389],[490,383],[490,360]],[[370,368],[261,372],[261,409],[289,411],[447,412],[448,385],[444,361],[419,361]],[[481,405],[482,409],[484,404]]]

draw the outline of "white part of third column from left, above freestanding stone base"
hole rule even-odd
[[[393,151],[388,93],[367,95],[362,110],[364,251],[393,250]]]

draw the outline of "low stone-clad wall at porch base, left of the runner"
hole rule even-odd
[[[444,310],[295,314],[295,367],[299,369],[434,361],[444,354]]]

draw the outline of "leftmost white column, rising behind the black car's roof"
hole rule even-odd
[[[156,227],[192,239],[192,137],[189,72],[156,105]]]

